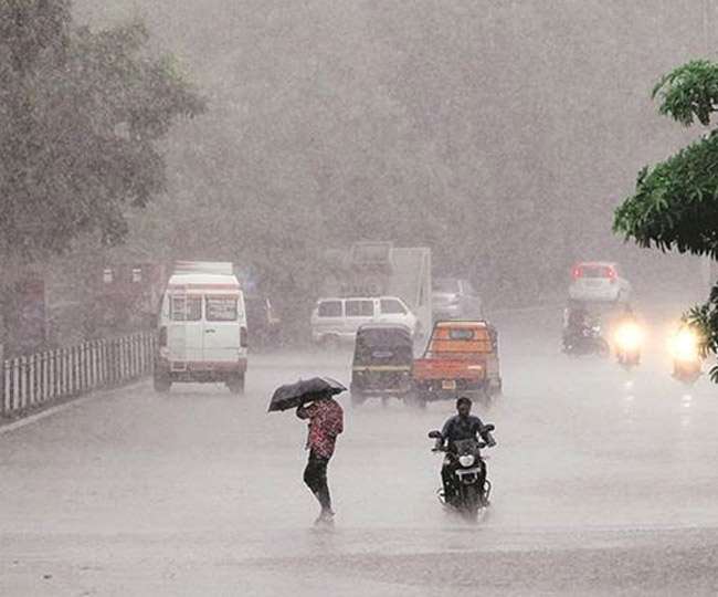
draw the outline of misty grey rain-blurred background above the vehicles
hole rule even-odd
[[[116,259],[232,260],[299,316],[325,248],[355,240],[431,247],[434,274],[471,277],[489,306],[562,300],[579,259],[620,261],[638,296],[703,297],[697,260],[611,231],[638,169],[690,138],[651,90],[714,54],[698,2],[77,0],[74,13],[145,20],[209,100],[170,133],[169,191],[134,214]]]

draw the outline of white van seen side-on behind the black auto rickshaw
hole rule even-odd
[[[359,327],[370,323],[402,325],[413,336],[419,320],[398,296],[319,298],[312,313],[312,339],[326,346],[353,342]]]

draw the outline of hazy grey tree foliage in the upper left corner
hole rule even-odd
[[[127,234],[165,188],[159,142],[203,100],[139,22],[76,27],[67,0],[0,0],[0,254],[34,261],[78,235]]]

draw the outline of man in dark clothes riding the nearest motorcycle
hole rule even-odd
[[[456,415],[451,417],[442,428],[441,438],[436,439],[435,450],[440,451],[446,446],[447,452],[455,453],[454,443],[461,440],[476,440],[484,441],[487,446],[495,446],[494,438],[484,429],[484,423],[478,417],[473,416],[472,401],[469,398],[463,396],[456,400]],[[441,470],[442,484],[444,486],[444,500],[450,503],[455,495],[454,489],[454,471],[456,470],[456,461],[454,459],[445,459]],[[486,465],[482,464],[482,472],[479,478],[479,486],[484,488],[486,481]],[[483,495],[482,490],[482,499]]]

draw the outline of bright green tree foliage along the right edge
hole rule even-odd
[[[653,90],[658,111],[690,126],[710,127],[718,111],[718,63],[696,60]],[[718,258],[718,129],[638,174],[636,190],[615,212],[614,230],[641,247]],[[718,284],[685,321],[703,332],[704,355],[718,353]],[[718,366],[711,370],[718,381]]]

